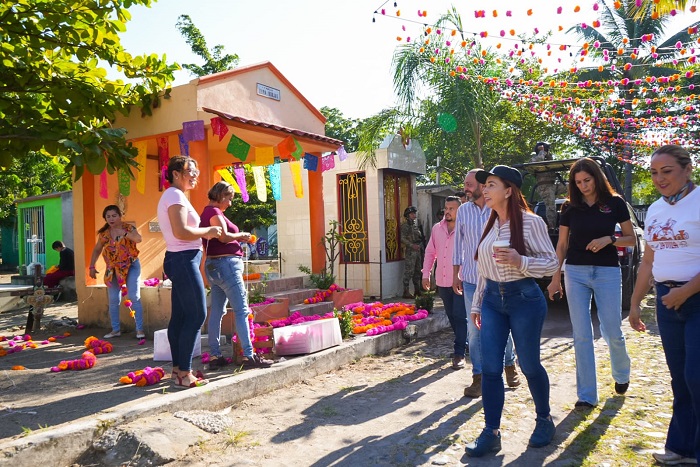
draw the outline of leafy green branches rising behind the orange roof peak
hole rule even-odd
[[[221,71],[232,70],[238,66],[237,54],[225,54],[224,46],[215,45],[211,50],[207,48],[207,41],[201,31],[194,25],[189,15],[180,15],[175,27],[185,38],[192,52],[204,59],[204,65],[184,63],[182,67],[194,76],[207,76]]]

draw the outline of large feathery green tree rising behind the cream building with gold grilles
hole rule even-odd
[[[373,148],[384,136],[399,133],[421,142],[428,179],[440,171],[441,183],[459,186],[466,169],[525,162],[536,141],[572,139],[570,132],[543,123],[526,106],[504,99],[497,83],[479,79],[504,79],[508,65],[461,31],[462,20],[453,8],[426,27],[420,41],[397,48],[394,88],[399,106],[363,122],[363,162],[373,162]],[[482,54],[484,60],[475,58]],[[534,60],[523,68],[539,72]]]

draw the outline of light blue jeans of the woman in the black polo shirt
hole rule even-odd
[[[564,285],[574,330],[578,400],[595,405],[598,403],[598,387],[591,296],[598,308],[600,334],[610,350],[612,377],[618,383],[630,380],[630,357],[622,334],[622,275],[619,267],[567,264]]]

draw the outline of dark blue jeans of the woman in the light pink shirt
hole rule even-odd
[[[173,367],[192,370],[192,354],[199,331],[207,319],[204,281],[199,272],[201,250],[166,251],[163,271],[172,281],[172,310],[168,323],[168,341]]]

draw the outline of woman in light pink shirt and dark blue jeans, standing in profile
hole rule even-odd
[[[168,163],[170,188],[158,202],[158,222],[165,238],[163,271],[172,281],[168,341],[173,358],[173,385],[194,388],[208,383],[192,374],[197,334],[207,319],[202,263],[202,238],[216,238],[221,227],[199,227],[199,216],[185,193],[197,186],[197,161],[174,156]]]

